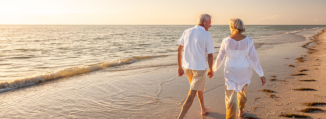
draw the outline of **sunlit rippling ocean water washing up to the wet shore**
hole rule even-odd
[[[177,41],[193,26],[0,25],[0,118],[175,118],[189,90]],[[326,25],[245,27],[265,50]],[[216,58],[230,29],[208,32]],[[222,72],[206,78],[206,92],[224,85]]]

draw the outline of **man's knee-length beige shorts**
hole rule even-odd
[[[206,70],[192,70],[185,68],[185,74],[188,77],[191,90],[205,91]]]

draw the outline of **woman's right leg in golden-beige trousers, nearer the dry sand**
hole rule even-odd
[[[239,117],[244,115],[244,106],[247,102],[247,87],[248,84],[245,84],[240,92],[238,92],[238,107],[239,107]]]

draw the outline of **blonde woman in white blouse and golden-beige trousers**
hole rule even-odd
[[[232,35],[222,41],[213,71],[216,72],[226,56],[224,68],[226,119],[235,119],[237,98],[239,117],[244,115],[242,109],[247,101],[247,86],[252,75],[251,67],[260,76],[262,85],[266,83],[266,78],[261,69],[253,40],[241,34],[245,31],[242,20],[230,19],[230,31]]]

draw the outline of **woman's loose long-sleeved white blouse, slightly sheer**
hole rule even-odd
[[[213,66],[214,72],[221,66],[225,56],[224,77],[225,85],[228,86],[227,90],[240,92],[245,84],[249,84],[252,75],[251,67],[260,77],[264,76],[254,42],[250,37],[241,41],[230,37],[223,39]]]

